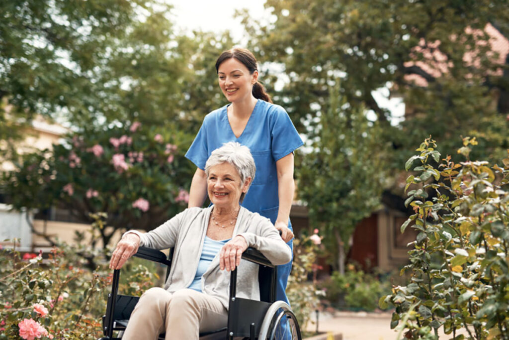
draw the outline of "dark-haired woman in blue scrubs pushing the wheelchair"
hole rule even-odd
[[[205,163],[211,152],[235,141],[251,150],[257,175],[242,206],[270,219],[292,247],[290,208],[295,191],[293,151],[303,143],[285,109],[272,103],[258,82],[258,64],[245,48],[224,51],[216,61],[219,87],[230,104],[212,111],[186,153],[197,169],[188,207],[202,206],[207,196]],[[278,266],[276,298],[288,303],[286,286],[292,263]]]

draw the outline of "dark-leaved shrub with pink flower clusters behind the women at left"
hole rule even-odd
[[[114,227],[99,228],[106,246],[119,229],[150,230],[187,206],[190,142],[171,126],[87,129],[52,150],[23,155],[4,174],[2,190],[17,210],[59,205],[90,223],[91,214],[106,213],[104,225]]]

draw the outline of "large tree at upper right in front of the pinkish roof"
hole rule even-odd
[[[245,17],[244,24],[255,53],[284,66],[290,82],[276,99],[297,123],[327,108],[328,86],[340,76],[350,105],[373,110],[384,125],[394,168],[430,134],[448,150],[459,134],[476,136],[483,147],[474,152],[493,158],[509,147],[509,60],[499,64],[486,33],[492,24],[509,37],[505,0],[268,0],[266,7],[274,22]],[[387,84],[411,108],[398,127],[373,97]]]

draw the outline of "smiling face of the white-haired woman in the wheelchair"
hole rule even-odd
[[[249,180],[248,178],[242,183],[237,169],[230,163],[210,167],[207,177],[210,201],[220,208],[238,206],[240,194],[247,191]]]

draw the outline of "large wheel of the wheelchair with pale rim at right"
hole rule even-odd
[[[276,301],[270,305],[262,326],[259,340],[301,340],[297,318],[290,306],[284,301]]]

